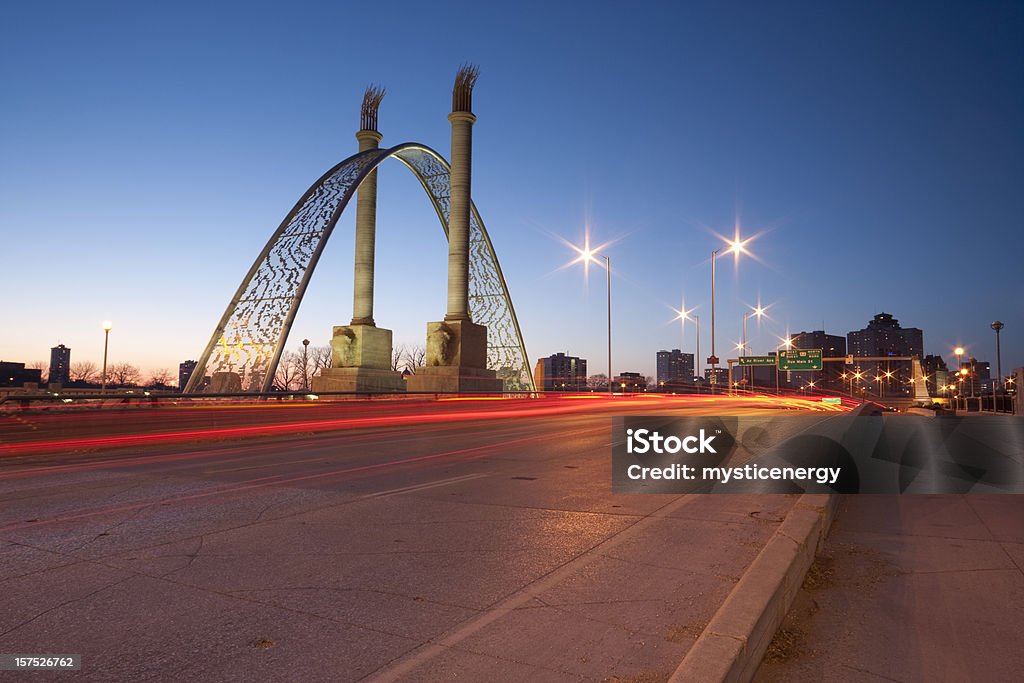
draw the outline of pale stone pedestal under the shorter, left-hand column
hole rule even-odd
[[[401,373],[391,370],[391,331],[372,325],[336,326],[331,338],[331,367],[312,378],[312,390],[404,391]]]

